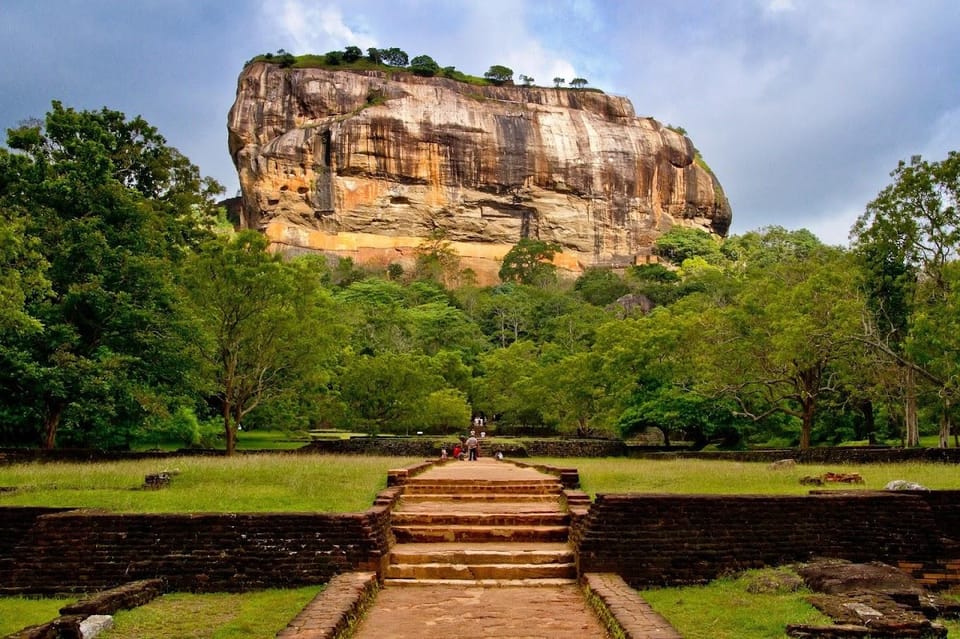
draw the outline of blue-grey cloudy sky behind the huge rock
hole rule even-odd
[[[246,60],[396,46],[587,78],[687,130],[733,232],[839,244],[899,160],[960,150],[958,33],[957,0],[0,0],[0,127],[54,99],[142,115],[233,195]]]

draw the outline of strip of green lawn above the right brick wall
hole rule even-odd
[[[597,493],[688,493],[804,495],[811,488],[800,478],[827,471],[860,473],[860,485],[831,484],[825,489],[880,490],[894,479],[917,482],[930,489],[960,489],[960,466],[930,462],[902,464],[806,465],[769,470],[762,462],[701,459],[537,459],[541,463],[574,466],[583,490]]]

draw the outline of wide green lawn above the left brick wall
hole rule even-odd
[[[0,466],[0,506],[114,512],[357,512],[386,486],[387,470],[420,458],[263,454]],[[177,471],[169,488],[143,478]]]

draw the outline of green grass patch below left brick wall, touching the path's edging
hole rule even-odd
[[[174,593],[117,613],[101,639],[259,639],[273,637],[320,587],[243,594]]]

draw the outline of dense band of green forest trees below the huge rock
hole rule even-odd
[[[141,118],[53,103],[0,149],[0,445],[184,445],[238,428],[949,444],[960,155],[901,163],[851,247],[675,228],[659,264],[564,278],[522,240],[478,287],[285,258]],[[242,434],[241,434],[242,436]]]

